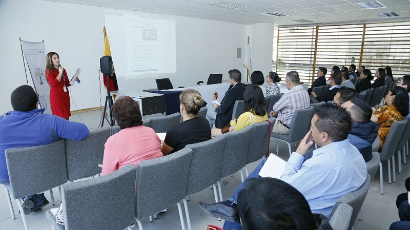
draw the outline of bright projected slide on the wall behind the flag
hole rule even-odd
[[[173,16],[106,10],[105,25],[117,77],[176,73]]]

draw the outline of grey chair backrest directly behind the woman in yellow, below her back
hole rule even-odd
[[[223,134],[226,136],[222,156],[222,171],[220,178],[232,175],[242,169],[247,163],[249,142],[251,141],[252,125],[239,131]]]

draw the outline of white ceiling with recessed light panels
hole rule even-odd
[[[369,0],[49,0],[87,6],[108,7],[171,14],[186,17],[218,20],[222,22],[250,25],[254,23],[274,23],[275,25],[304,25],[293,20],[306,19],[313,23],[327,24],[346,22],[368,22],[384,20],[410,20],[410,0],[379,0],[385,8],[362,9],[355,3]],[[372,0],[374,1],[374,0]],[[229,2],[242,5],[239,10],[210,5]],[[287,16],[270,17],[258,13],[275,12]],[[378,13],[395,12],[399,16],[381,18]]]

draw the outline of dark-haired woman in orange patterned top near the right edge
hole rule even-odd
[[[375,110],[372,115],[372,121],[380,125],[378,134],[380,147],[378,152],[383,149],[384,141],[393,122],[402,120],[408,114],[407,90],[402,87],[393,87],[388,91],[384,101],[386,104]]]

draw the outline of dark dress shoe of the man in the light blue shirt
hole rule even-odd
[[[214,217],[220,218],[222,220],[227,220],[231,222],[238,221],[238,210],[233,207],[222,204],[222,202],[214,204],[206,204],[199,202],[199,207],[202,210]]]

